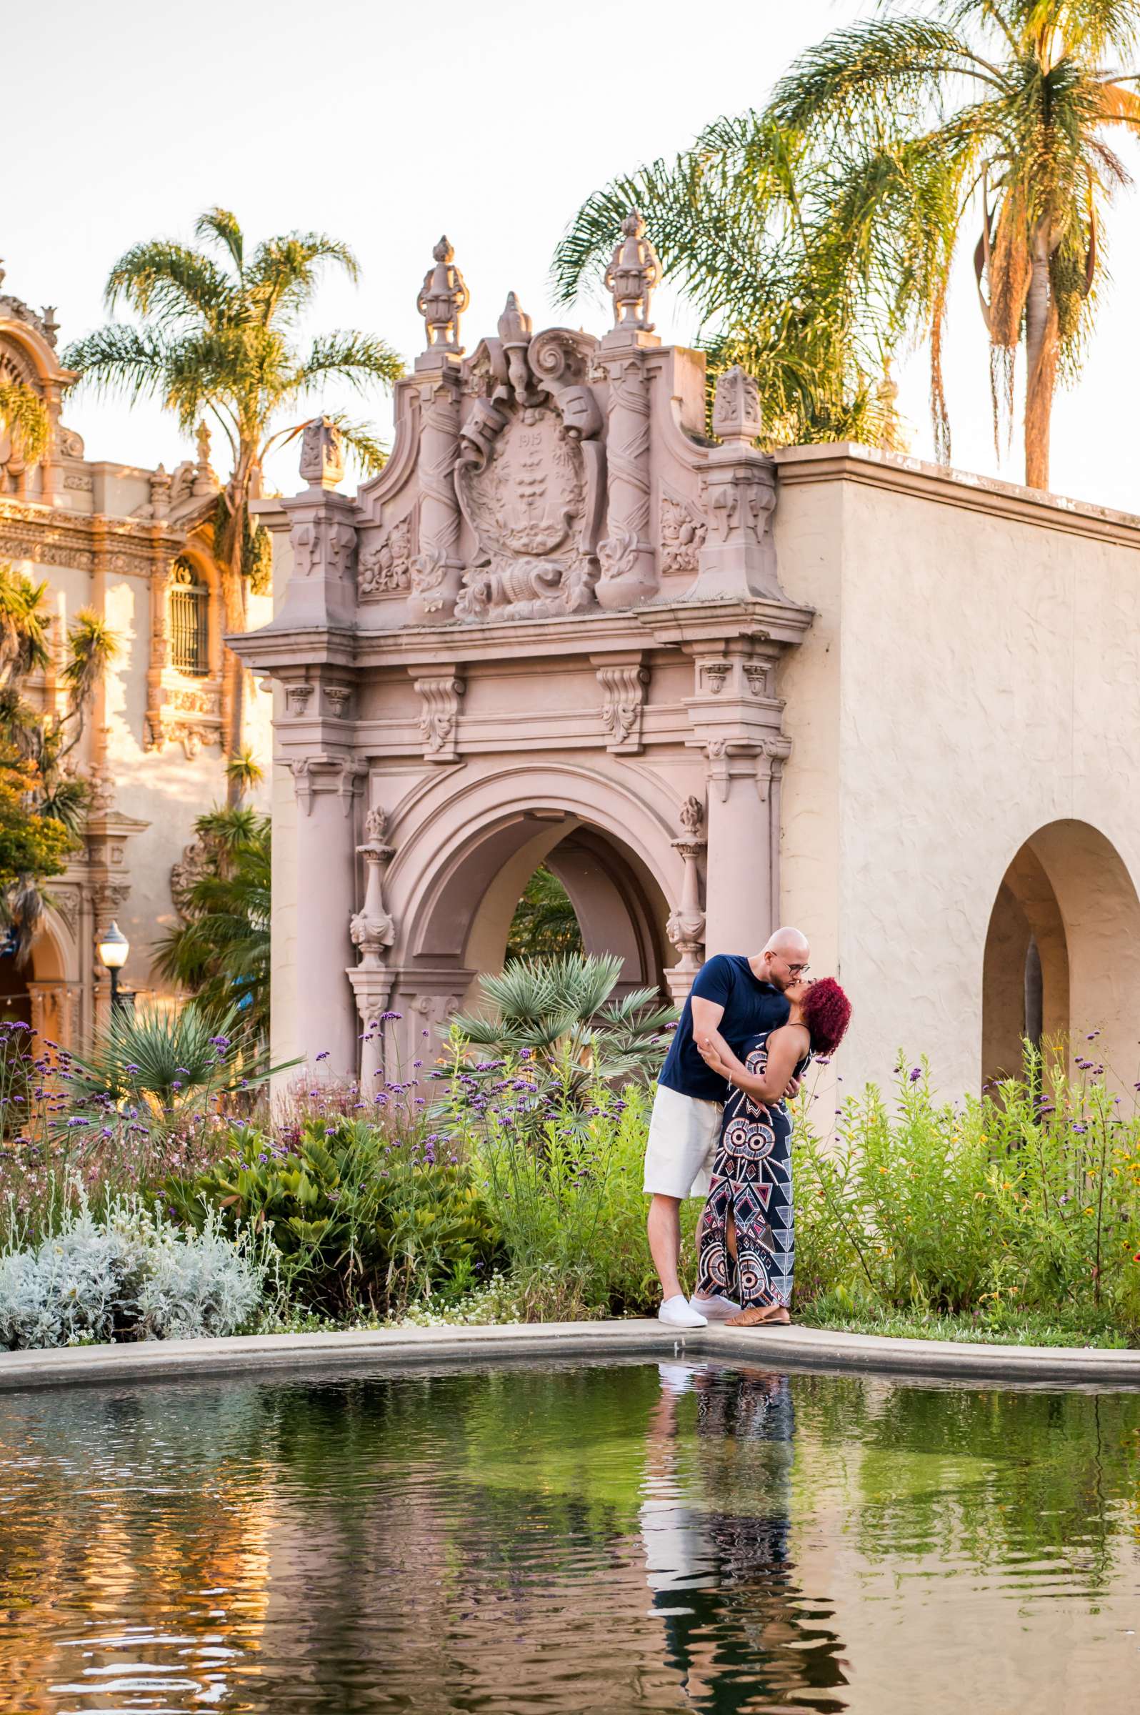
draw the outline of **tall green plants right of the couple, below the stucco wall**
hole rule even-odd
[[[1035,1099],[1032,1053],[1025,1082],[960,1104],[915,1070],[890,1106],[874,1086],[852,1098],[837,1144],[801,1116],[797,1302],[1140,1333],[1140,1116],[1099,1074],[1070,1082],[1056,1065]]]

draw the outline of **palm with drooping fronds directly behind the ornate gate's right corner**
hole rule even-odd
[[[554,256],[555,297],[571,304],[600,274],[638,208],[663,276],[701,317],[694,343],[710,384],[732,364],[756,376],[768,446],[895,446],[898,329],[874,314],[862,259],[837,232],[835,189],[837,163],[807,156],[778,125],[754,113],[717,120],[675,161],[621,175],[583,202]]]

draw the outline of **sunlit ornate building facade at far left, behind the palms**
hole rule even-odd
[[[0,563],[48,583],[53,659],[29,696],[60,707],[62,645],[81,609],[105,617],[120,643],[77,751],[93,784],[82,849],[50,883],[31,966],[0,957],[0,1015],[69,1046],[108,1003],[96,943],[111,918],[132,943],[127,984],[165,993],[151,948],[175,921],[171,873],[177,885],[194,818],[225,801],[223,617],[211,551],[219,484],[206,429],[197,458],[173,472],[87,460],[62,422],[75,377],[60,365],[57,338],[51,309],[38,314],[0,293],[0,376],[29,384],[51,420],[34,466],[0,434]],[[267,599],[250,607],[254,623],[269,617]],[[250,743],[267,753],[267,698],[249,698],[247,710]]]

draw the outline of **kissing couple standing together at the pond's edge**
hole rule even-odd
[[[807,942],[718,954],[696,974],[665,1056],[645,1156],[658,1317],[674,1327],[787,1322],[792,1302],[792,1118],[813,1055],[838,1048],[850,1002],[807,976]],[[698,1285],[681,1290],[681,1202],[706,1194]]]

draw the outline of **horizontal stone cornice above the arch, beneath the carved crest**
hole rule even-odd
[[[624,612],[567,614],[564,619],[507,619],[499,624],[403,626],[399,631],[358,628],[262,626],[226,643],[254,672],[333,667],[459,667],[566,655],[610,655],[651,645],[717,643],[761,638],[799,643],[813,621],[809,607],[792,602],[648,602]]]

